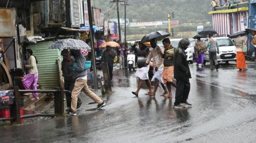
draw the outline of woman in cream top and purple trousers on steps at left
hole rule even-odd
[[[28,74],[22,79],[22,84],[26,90],[37,90],[37,60],[35,56],[33,56],[33,51],[31,49],[27,49],[25,55],[28,58],[28,64],[25,65],[25,67],[28,69]],[[38,93],[33,93],[33,98],[31,100],[37,99],[39,99]]]

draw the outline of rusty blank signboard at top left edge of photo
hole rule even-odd
[[[12,8],[0,8],[0,37],[15,37],[15,14]]]

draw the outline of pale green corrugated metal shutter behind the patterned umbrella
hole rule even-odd
[[[53,89],[60,86],[57,59],[61,60],[61,50],[49,49],[54,41],[38,42],[30,44],[28,48],[33,50],[33,55],[38,61],[37,68],[41,89]]]

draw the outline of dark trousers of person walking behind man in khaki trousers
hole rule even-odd
[[[64,80],[64,89],[65,90],[69,90],[70,92],[72,92],[74,88],[74,81],[67,81]],[[71,108],[71,93],[66,93],[66,101],[67,101],[67,107]],[[77,106],[80,106],[80,104],[82,103],[81,99],[79,97],[77,97]]]

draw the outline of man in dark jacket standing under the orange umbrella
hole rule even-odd
[[[107,62],[108,72],[110,76],[110,81],[113,78],[113,59],[115,58],[115,53],[111,50],[110,46],[106,47],[106,50],[102,54],[102,61]]]

